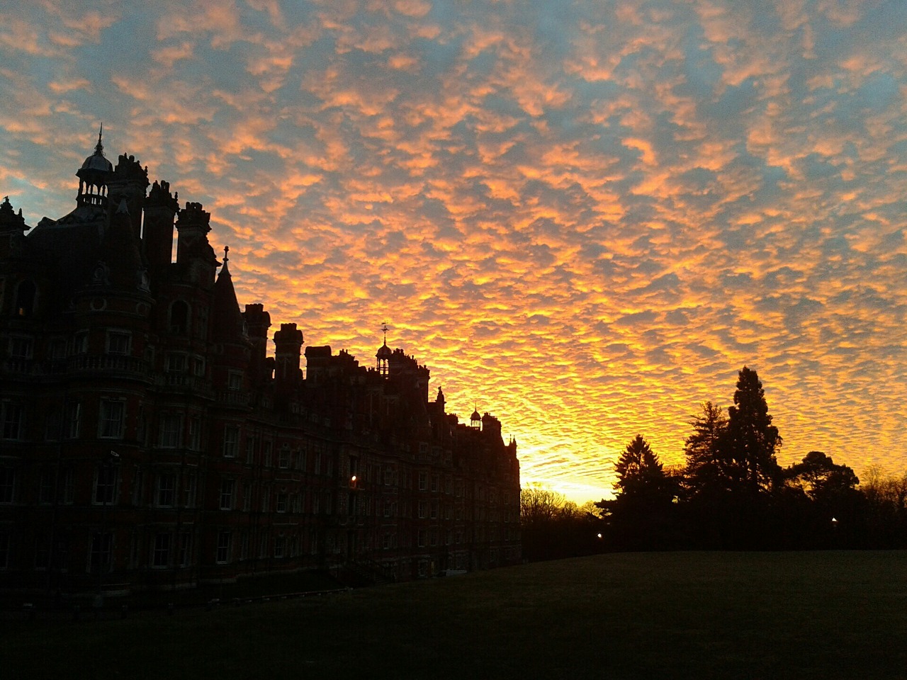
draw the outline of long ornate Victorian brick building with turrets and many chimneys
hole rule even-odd
[[[520,560],[497,419],[459,423],[386,341],[366,367],[281,324],[269,355],[270,316],[240,311],[200,203],[149,189],[132,156],[114,168],[100,136],[76,175],[61,219],[0,204],[0,588]]]

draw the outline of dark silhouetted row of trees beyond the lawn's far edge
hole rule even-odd
[[[781,466],[782,438],[756,371],[744,366],[727,413],[702,404],[685,464],[668,469],[641,434],[616,465],[616,496],[577,507],[522,491],[523,553],[552,559],[601,549],[903,549],[907,473],[864,474],[813,451]]]

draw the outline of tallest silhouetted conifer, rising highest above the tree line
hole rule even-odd
[[[734,405],[727,409],[727,428],[718,448],[721,464],[734,491],[758,494],[770,490],[781,468],[775,450],[781,436],[768,414],[759,376],[746,366],[737,377]]]

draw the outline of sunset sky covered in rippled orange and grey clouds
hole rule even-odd
[[[907,470],[902,0],[0,2],[0,195],[103,143],[272,330],[432,371],[522,481],[683,461],[755,369],[783,464]]]

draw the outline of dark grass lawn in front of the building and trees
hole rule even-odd
[[[10,624],[5,680],[888,680],[907,677],[907,552],[610,554],[172,617]]]

